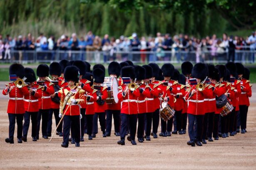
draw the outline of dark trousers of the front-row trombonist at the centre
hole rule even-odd
[[[127,130],[128,120],[130,125],[130,137],[132,140],[135,140],[136,135],[136,126],[137,126],[137,114],[120,114],[121,117],[121,129],[120,129],[120,138],[125,138],[125,133]]]

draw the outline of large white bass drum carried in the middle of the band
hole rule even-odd
[[[107,86],[107,104],[118,103],[118,81],[115,77],[105,77],[103,86]]]

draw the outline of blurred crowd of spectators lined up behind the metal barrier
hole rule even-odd
[[[249,61],[254,63],[256,50],[256,35],[228,36],[221,38],[216,35],[206,36],[202,39],[186,34],[170,36],[157,33],[156,37],[138,37],[136,33],[131,36],[118,38],[95,36],[89,31],[85,36],[77,37],[62,35],[46,37],[40,34],[37,38],[31,34],[5,38],[0,34],[0,60],[27,61],[37,53],[39,60],[87,60],[100,61],[103,57],[107,61],[125,61],[131,59],[145,63],[145,61]],[[15,51],[12,53],[12,51]],[[82,52],[81,52],[82,51]],[[130,54],[132,53],[132,58]]]

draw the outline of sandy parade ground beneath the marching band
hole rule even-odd
[[[159,137],[132,146],[117,145],[118,137],[97,137],[80,147],[62,148],[62,138],[14,144],[5,143],[8,136],[7,98],[0,95],[0,169],[251,169],[256,170],[256,85],[249,107],[246,134],[237,134],[202,147],[186,144],[188,134]],[[54,121],[53,121],[54,122]],[[52,125],[53,127],[55,124]],[[30,126],[31,127],[31,126]],[[112,126],[113,129],[113,126]],[[160,129],[159,129],[160,130]],[[99,130],[100,131],[100,130]],[[31,135],[29,129],[28,136]],[[15,129],[16,136],[16,129]]]

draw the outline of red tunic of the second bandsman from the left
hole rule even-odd
[[[34,92],[24,95],[25,111],[38,112],[38,99],[42,97],[42,86],[34,83],[30,88]]]

